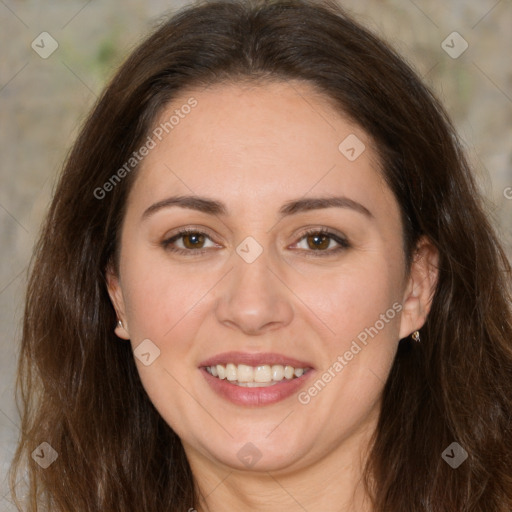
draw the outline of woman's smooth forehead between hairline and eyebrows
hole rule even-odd
[[[393,202],[372,140],[307,83],[186,91],[163,109],[155,128],[165,126],[138,171],[137,202],[171,193],[229,198],[240,210],[308,193]]]

